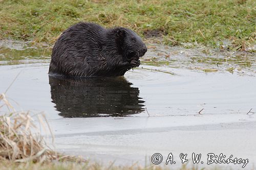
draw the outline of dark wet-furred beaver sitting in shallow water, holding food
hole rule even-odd
[[[66,77],[116,77],[140,65],[147,51],[142,39],[122,27],[105,29],[79,22],[57,39],[49,75]]]

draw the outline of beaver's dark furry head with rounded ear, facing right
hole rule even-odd
[[[139,60],[147,51],[142,39],[135,32],[126,28],[116,29],[116,43],[119,53],[127,60],[131,60],[131,58]]]

